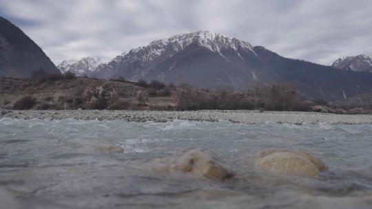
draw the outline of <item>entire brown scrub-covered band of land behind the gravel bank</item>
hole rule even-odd
[[[267,110],[322,113],[372,113],[371,107],[330,107],[293,91],[291,85],[255,85],[246,91],[198,89],[190,85],[165,85],[74,77],[73,74],[39,78],[0,78],[0,109],[108,109],[108,110]]]

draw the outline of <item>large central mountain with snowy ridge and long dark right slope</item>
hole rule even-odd
[[[99,65],[92,76],[247,89],[291,83],[308,98],[338,100],[372,89],[371,76],[284,58],[222,34],[200,31],[153,41]]]

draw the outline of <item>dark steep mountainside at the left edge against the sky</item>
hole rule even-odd
[[[0,17],[0,76],[27,78],[37,70],[61,74],[34,41]]]

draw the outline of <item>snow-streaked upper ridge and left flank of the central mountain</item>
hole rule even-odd
[[[191,50],[195,47],[220,56],[228,63],[236,63],[236,59],[238,59],[238,62],[242,62],[244,60],[242,56],[257,56],[253,46],[245,41],[229,38],[218,33],[200,31],[153,41],[145,47],[138,47],[116,56],[110,63],[99,66],[96,76],[103,78],[123,76],[130,80],[139,80],[150,76],[155,71],[156,65],[169,60],[179,52]],[[231,55],[234,57],[231,57]],[[169,69],[174,69],[179,64],[175,61]],[[157,76],[156,79],[167,80],[162,76]]]

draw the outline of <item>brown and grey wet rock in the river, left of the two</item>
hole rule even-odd
[[[158,166],[154,168],[158,173],[189,173],[211,180],[224,180],[234,176],[216,156],[204,149],[189,149],[183,153],[156,159]]]

